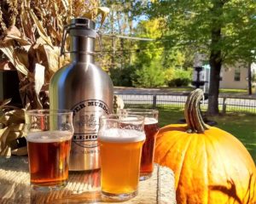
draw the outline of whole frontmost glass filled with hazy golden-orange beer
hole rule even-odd
[[[143,116],[114,114],[100,118],[102,196],[111,201],[125,201],[137,195],[145,140],[143,120]]]

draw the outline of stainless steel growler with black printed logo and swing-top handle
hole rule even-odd
[[[99,117],[113,111],[113,82],[94,64],[95,22],[77,18],[66,26],[61,54],[67,33],[71,38],[71,63],[62,67],[49,84],[50,109],[73,110],[74,134],[69,169],[83,171],[99,168],[96,141]]]

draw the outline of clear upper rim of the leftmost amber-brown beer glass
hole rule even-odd
[[[66,109],[33,109],[25,111],[29,116],[73,115],[73,111]]]

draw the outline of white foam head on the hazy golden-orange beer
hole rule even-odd
[[[98,139],[105,142],[139,142],[145,139],[145,133],[136,129],[109,128],[102,129],[98,133]]]

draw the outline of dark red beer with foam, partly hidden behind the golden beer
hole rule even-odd
[[[146,140],[143,144],[141,178],[150,177],[153,173],[155,134],[158,132],[158,129],[158,121],[155,118],[145,117],[144,130]]]

